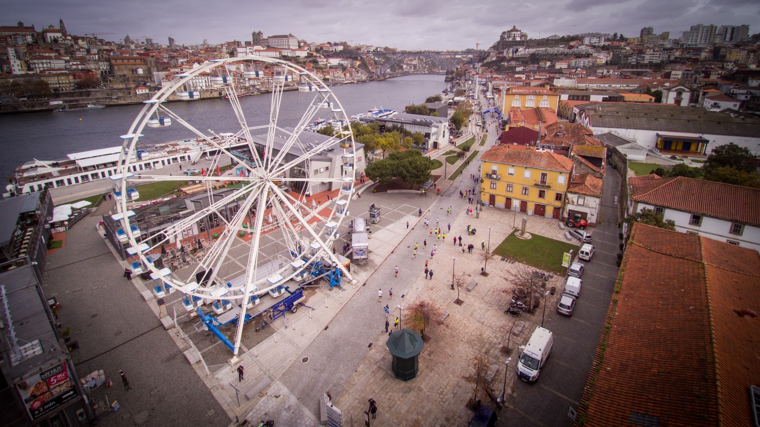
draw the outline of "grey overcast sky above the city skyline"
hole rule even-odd
[[[106,40],[150,37],[167,44],[221,43],[293,33],[310,42],[346,41],[399,49],[481,49],[516,25],[530,38],[587,32],[638,36],[641,27],[677,38],[694,24],[749,24],[760,31],[757,0],[27,0],[4,2],[0,25],[58,27]]]

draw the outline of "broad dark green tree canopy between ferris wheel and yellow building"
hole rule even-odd
[[[396,150],[391,151],[387,158],[367,166],[364,173],[372,181],[384,184],[398,178],[407,182],[411,188],[414,184],[422,184],[432,177],[431,166],[432,160],[423,156],[420,150]]]

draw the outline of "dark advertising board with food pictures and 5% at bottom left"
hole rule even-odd
[[[16,389],[32,419],[49,413],[78,395],[65,362],[26,378],[26,381],[16,384]]]

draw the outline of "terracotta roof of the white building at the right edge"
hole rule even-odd
[[[646,204],[760,226],[760,188],[676,176],[629,179],[631,198]]]

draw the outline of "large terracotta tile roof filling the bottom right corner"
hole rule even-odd
[[[620,271],[584,426],[751,425],[760,318],[735,310],[760,306],[758,252],[637,223]]]

